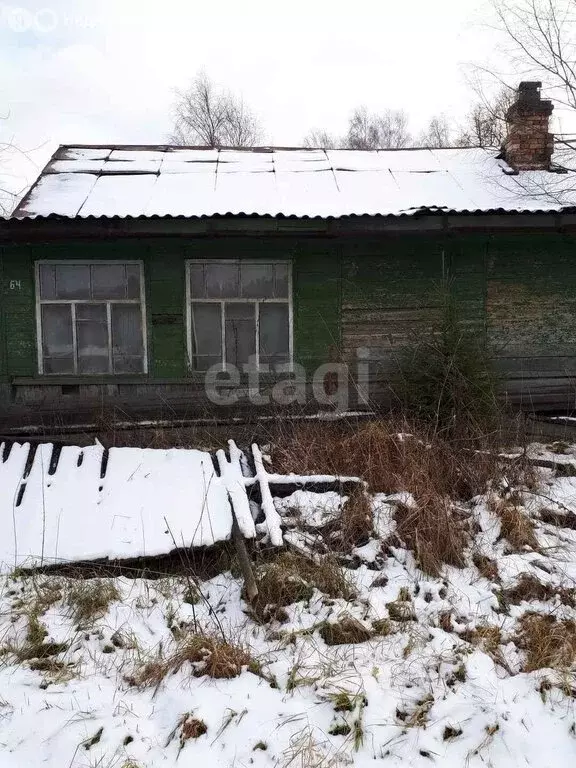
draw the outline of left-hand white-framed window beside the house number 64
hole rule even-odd
[[[145,373],[138,262],[37,265],[40,373]]]

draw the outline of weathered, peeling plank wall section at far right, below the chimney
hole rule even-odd
[[[492,237],[486,321],[508,397],[527,408],[576,407],[576,239]]]

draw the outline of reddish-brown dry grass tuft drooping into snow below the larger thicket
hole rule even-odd
[[[468,536],[447,498],[429,495],[416,507],[398,504],[394,518],[397,535],[425,573],[438,576],[444,563],[465,565]]]

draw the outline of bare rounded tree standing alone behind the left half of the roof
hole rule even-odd
[[[242,99],[219,89],[205,73],[176,94],[172,144],[253,147],[261,140],[260,124]]]

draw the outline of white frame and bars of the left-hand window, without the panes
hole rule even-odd
[[[94,266],[98,264],[122,264],[137,265],[140,269],[140,298],[138,299],[43,299],[40,295],[40,267],[46,264],[56,266]],[[38,371],[43,376],[143,376],[148,373],[148,334],[146,324],[146,290],[144,285],[144,262],[140,259],[41,259],[34,265],[36,288],[36,341],[38,350]],[[70,304],[72,305],[72,345],[74,353],[74,371],[72,373],[45,373],[44,355],[42,351],[42,306],[44,304]],[[78,344],[76,339],[76,305],[77,304],[106,304],[106,319],[108,326],[108,364],[109,371],[105,373],[78,373]],[[111,304],[139,304],[142,314],[142,351],[143,370],[138,373],[114,373],[112,359],[112,320]]]

